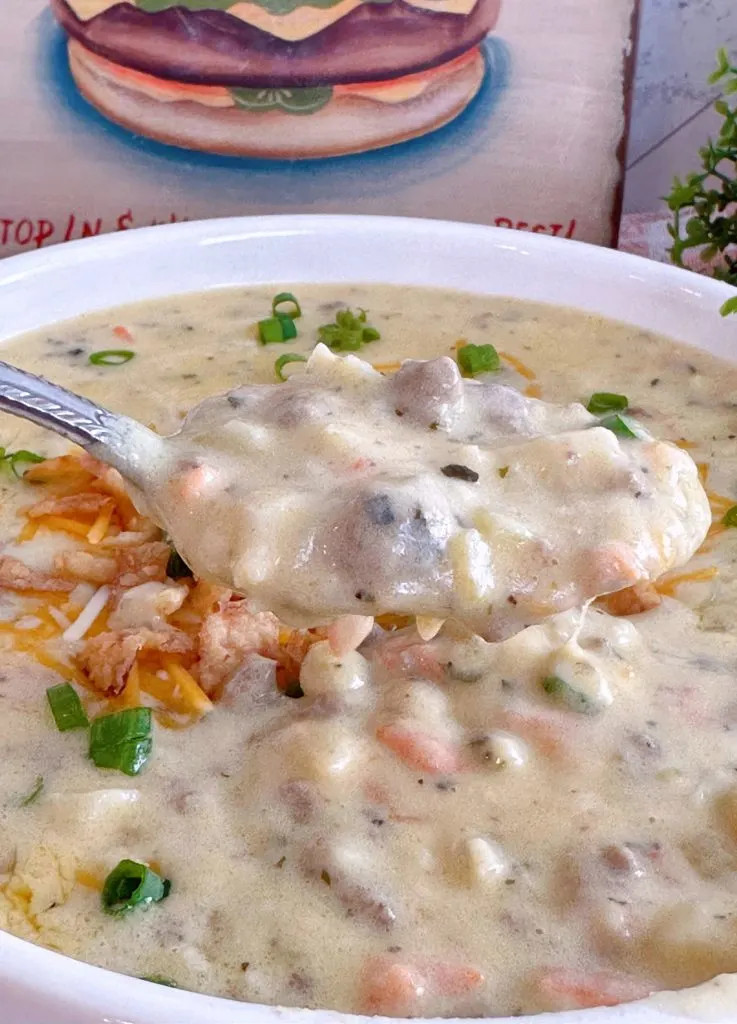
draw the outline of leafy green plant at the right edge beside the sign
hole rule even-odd
[[[673,212],[668,233],[671,260],[684,266],[689,249],[699,251],[713,276],[737,286],[737,67],[726,49],[717,55],[717,70],[709,84],[722,85],[722,97],[714,103],[723,118],[716,141],[699,150],[702,170],[674,180],[665,202]],[[722,314],[737,313],[737,297],[728,299]]]

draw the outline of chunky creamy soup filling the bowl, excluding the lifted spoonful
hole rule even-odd
[[[300,629],[192,579],[116,474],[4,418],[7,453],[56,458],[1,477],[0,927],[183,988],[390,1016],[609,1005],[737,971],[737,369],[533,304],[294,291],[286,345],[259,344],[273,292],[249,289],[4,355],[170,433],[365,307],[381,339],[358,354],[388,381],[490,343],[493,382],[527,397],[625,395],[697,462],[714,524],[685,569],[504,642],[424,616]],[[117,348],[134,357],[89,364]],[[77,702],[50,703],[64,682]]]

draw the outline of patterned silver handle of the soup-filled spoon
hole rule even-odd
[[[134,483],[162,451],[162,438],[135,420],[0,360],[0,412],[23,417],[74,441]]]

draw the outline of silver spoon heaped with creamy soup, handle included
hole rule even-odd
[[[710,523],[685,452],[447,357],[385,377],[318,345],[170,437],[6,364],[0,409],[114,466],[199,577],[295,626],[395,612],[500,640],[683,564]]]

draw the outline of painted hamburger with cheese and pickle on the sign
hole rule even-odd
[[[80,92],[172,145],[268,159],[361,153],[478,93],[502,0],[51,0]]]

